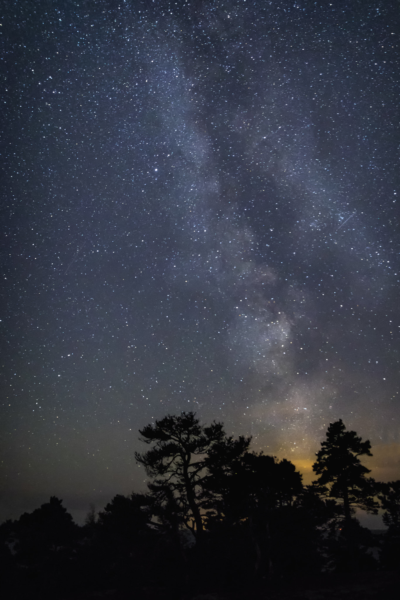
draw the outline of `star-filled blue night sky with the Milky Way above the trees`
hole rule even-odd
[[[181,410],[306,482],[342,418],[400,478],[398,20],[4,5],[0,520],[144,489]]]

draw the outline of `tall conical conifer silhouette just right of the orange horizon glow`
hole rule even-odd
[[[312,470],[319,475],[314,486],[322,495],[341,500],[345,523],[351,521],[354,507],[377,514],[378,503],[374,500],[374,479],[366,478],[371,470],[364,467],[359,457],[372,456],[369,440],[362,442],[355,431],[346,431],[342,419],[331,423],[326,440],[321,442],[317,460]]]

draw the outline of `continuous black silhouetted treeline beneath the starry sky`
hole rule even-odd
[[[136,455],[148,493],[115,496],[82,527],[56,497],[0,526],[7,597],[118,590],[121,597],[193,598],[323,573],[399,569],[400,481],[368,477],[360,458],[371,456],[371,445],[341,420],[328,428],[308,486],[290,461],[251,452],[250,438],[227,437],[219,423],[201,426],[191,412],[140,434],[151,445]],[[382,508],[386,533],[360,526],[356,508]]]

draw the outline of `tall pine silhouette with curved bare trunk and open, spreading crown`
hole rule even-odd
[[[199,424],[193,412],[168,415],[139,431],[142,441],[154,443],[148,452],[136,452],[136,460],[143,464],[152,478],[149,490],[160,505],[176,512],[199,538],[203,532],[201,508],[206,502],[203,487],[207,476],[204,457],[212,446],[224,438],[221,423],[210,427]],[[167,511],[168,512],[168,511]]]

